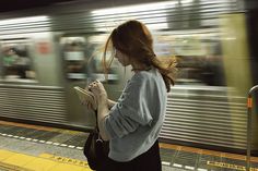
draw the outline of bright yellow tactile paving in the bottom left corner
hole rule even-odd
[[[86,161],[49,154],[38,157],[0,149],[0,169],[10,171],[92,171]]]

